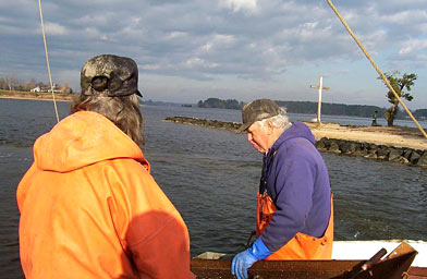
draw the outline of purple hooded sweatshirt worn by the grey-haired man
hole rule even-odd
[[[331,214],[328,170],[307,125],[295,122],[264,156],[259,193],[272,198],[277,211],[261,234],[270,252],[297,232],[320,238]]]

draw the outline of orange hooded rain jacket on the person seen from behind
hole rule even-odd
[[[40,136],[16,196],[26,278],[194,278],[184,221],[101,114],[76,112]]]

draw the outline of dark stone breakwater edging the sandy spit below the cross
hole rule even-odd
[[[164,121],[185,123],[199,126],[224,129],[236,131],[242,123],[223,122],[218,120],[172,117],[166,118]],[[316,147],[320,151],[342,154],[346,156],[362,156],[368,159],[377,159],[392,162],[400,162],[410,166],[419,166],[427,168],[427,150],[415,149],[411,147],[400,147],[382,145],[362,141],[349,141],[333,137],[321,137],[316,141]]]

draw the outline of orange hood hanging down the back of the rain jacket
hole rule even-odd
[[[91,111],[73,113],[34,144],[35,165],[68,172],[99,161],[130,158],[149,169],[141,148],[114,123]]]

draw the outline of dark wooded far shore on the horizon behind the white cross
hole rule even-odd
[[[315,101],[284,101],[276,100],[279,107],[285,107],[286,111],[290,113],[317,113],[317,102]],[[222,100],[218,98],[208,98],[206,100],[199,100],[197,106],[199,108],[221,108],[221,109],[242,109],[245,104],[235,99]],[[363,106],[363,105],[344,105],[344,104],[321,104],[321,113],[328,116],[346,116],[346,117],[361,117],[370,118],[374,112],[378,111],[378,118],[383,118],[386,113],[386,108],[380,108],[378,106]],[[415,118],[419,120],[427,119],[427,109],[417,109],[412,111]],[[404,111],[400,111],[398,118],[406,118]]]

